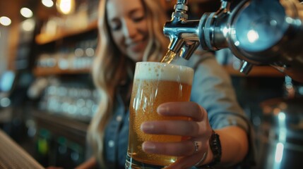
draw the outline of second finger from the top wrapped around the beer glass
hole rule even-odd
[[[146,134],[170,134],[196,137],[203,129],[198,123],[186,120],[148,121],[141,124],[141,130]]]

